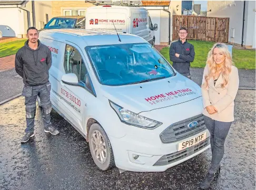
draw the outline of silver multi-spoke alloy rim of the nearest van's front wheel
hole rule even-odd
[[[106,145],[102,134],[97,130],[93,131],[91,142],[94,157],[103,164],[106,161]]]

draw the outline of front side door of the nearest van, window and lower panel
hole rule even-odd
[[[84,117],[86,112],[86,96],[89,94],[86,87],[86,77],[90,81],[83,58],[78,48],[66,45],[64,58],[65,73],[74,73],[78,79],[78,85],[64,84],[61,82],[61,93],[65,96],[63,106],[68,111],[68,119],[85,134]],[[88,78],[89,77],[89,78]]]

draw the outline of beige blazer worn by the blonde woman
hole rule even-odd
[[[203,71],[203,81],[205,82],[204,76],[209,73],[209,65],[206,64]],[[229,75],[229,83],[224,88],[221,88],[223,83],[222,74],[215,83],[213,78],[208,81],[207,88],[201,88],[203,97],[203,115],[208,116],[215,121],[220,122],[233,122],[234,121],[234,99],[237,96],[239,87],[238,69],[232,66],[231,73]],[[209,114],[206,107],[213,105],[218,112]]]

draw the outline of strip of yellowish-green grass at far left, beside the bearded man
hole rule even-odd
[[[18,49],[24,46],[26,39],[14,42],[0,43],[0,57],[16,54]]]

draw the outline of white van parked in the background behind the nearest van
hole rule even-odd
[[[147,9],[132,6],[95,6],[86,9],[85,29],[135,34],[154,46],[154,31]]]

